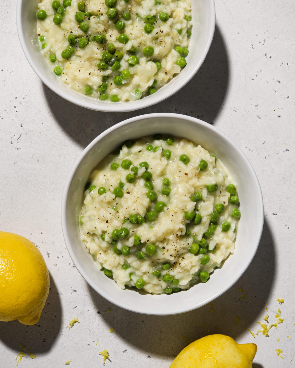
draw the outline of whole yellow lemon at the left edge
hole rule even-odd
[[[49,292],[49,272],[30,240],[0,231],[0,321],[37,323]]]

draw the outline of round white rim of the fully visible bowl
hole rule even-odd
[[[67,204],[67,198],[68,198],[68,194],[69,194],[69,189],[70,189],[70,184],[72,183],[72,180],[74,178],[74,175],[76,174],[76,170],[78,169],[78,167],[80,166],[81,162],[83,161],[83,159],[85,158],[85,156],[87,155],[87,153],[104,137],[106,137],[110,132],[113,132],[115,130],[117,130],[118,128],[124,127],[128,124],[132,124],[134,123],[136,120],[141,120],[141,119],[146,119],[146,118],[160,118],[160,117],[171,117],[171,118],[181,118],[184,120],[188,120],[191,122],[194,122],[198,125],[201,125],[203,127],[210,127],[211,130],[214,130],[219,136],[221,136],[230,146],[233,146],[237,151],[239,151],[240,155],[242,156],[244,163],[247,165],[249,171],[252,174],[253,180],[255,182],[256,185],[256,189],[257,189],[257,195],[259,197],[259,200],[257,202],[257,221],[258,221],[258,229],[259,231],[256,234],[256,245],[253,248],[253,250],[251,251],[251,253],[249,254],[249,262],[247,262],[246,264],[243,265],[242,268],[239,269],[239,272],[236,274],[235,277],[233,277],[233,279],[228,282],[227,284],[225,284],[224,287],[222,287],[222,289],[220,289],[217,293],[215,293],[214,295],[212,295],[211,297],[207,298],[206,300],[202,301],[202,302],[198,302],[197,304],[195,304],[194,306],[190,306],[190,307],[183,307],[181,309],[177,309],[174,312],[158,312],[158,311],[142,311],[136,308],[132,308],[129,306],[126,306],[124,301],[122,302],[119,298],[113,298],[109,295],[107,295],[106,293],[102,292],[101,290],[98,290],[99,288],[97,287],[97,285],[90,279],[90,277],[87,276],[86,272],[84,272],[83,267],[80,265],[80,261],[79,259],[76,257],[73,248],[72,248],[72,244],[69,240],[69,236],[68,236],[68,228],[67,228],[67,216],[66,216],[66,204]],[[187,115],[183,115],[183,114],[175,114],[175,113],[152,113],[152,114],[143,114],[140,116],[135,116],[126,120],[121,121],[120,123],[117,123],[113,126],[111,126],[110,128],[108,128],[107,130],[105,130],[104,132],[102,132],[100,135],[98,135],[96,138],[93,139],[93,141],[90,142],[90,144],[81,152],[80,156],[77,158],[76,163],[74,164],[73,169],[70,172],[70,175],[66,181],[66,185],[65,185],[65,189],[63,191],[63,196],[62,196],[62,205],[61,205],[61,223],[62,223],[62,232],[63,232],[63,237],[65,240],[65,244],[66,244],[66,248],[67,251],[69,252],[70,258],[72,259],[74,265],[76,266],[77,270],[79,271],[80,275],[84,278],[84,280],[86,280],[86,282],[98,293],[100,294],[102,297],[104,297],[106,300],[110,301],[112,304],[117,305],[118,307],[124,308],[128,311],[132,311],[132,312],[136,312],[136,313],[140,313],[140,314],[150,314],[150,315],[174,315],[174,314],[180,314],[180,313],[184,313],[184,312],[188,312],[188,311],[192,311],[194,309],[200,308],[203,305],[208,304],[209,302],[211,302],[212,300],[215,300],[216,298],[218,298],[219,296],[221,296],[223,293],[225,293],[225,291],[227,291],[230,287],[232,287],[237,280],[239,280],[239,278],[243,275],[243,273],[246,271],[246,269],[250,266],[258,245],[260,243],[260,239],[261,239],[261,235],[262,235],[262,231],[263,231],[263,224],[264,224],[264,208],[263,208],[263,197],[262,197],[262,192],[261,192],[261,187],[258,181],[258,178],[256,176],[256,173],[250,163],[250,161],[247,159],[246,155],[243,153],[243,151],[239,148],[239,146],[237,146],[235,144],[235,142],[232,141],[232,139],[230,139],[229,137],[227,137],[222,131],[220,131],[219,129],[215,128],[212,125],[209,125],[208,123],[206,123],[205,121],[202,121],[198,118],[195,117],[191,117],[191,116],[187,116]]]

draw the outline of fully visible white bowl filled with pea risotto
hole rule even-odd
[[[260,186],[242,151],[179,114],[103,132],[77,160],[62,200],[65,243],[81,275],[144,314],[190,311],[224,293],[252,261],[262,228]]]

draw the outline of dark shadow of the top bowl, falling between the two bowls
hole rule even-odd
[[[222,108],[228,84],[228,53],[221,31],[216,25],[211,47],[197,74],[181,91],[157,105],[127,113],[96,112],[66,101],[45,84],[43,91],[57,123],[84,148],[112,125],[142,114],[179,113],[213,124]]]

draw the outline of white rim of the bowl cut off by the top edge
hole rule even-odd
[[[93,102],[84,102],[80,98],[75,96],[70,96],[68,93],[63,92],[59,89],[58,84],[55,83],[55,81],[45,73],[43,73],[41,67],[39,66],[39,63],[37,60],[35,60],[34,57],[32,57],[25,41],[24,36],[24,29],[22,25],[22,18],[21,18],[21,12],[22,12],[22,6],[24,4],[24,0],[17,0],[17,7],[16,7],[16,25],[17,25],[17,33],[18,38],[20,40],[20,44],[22,47],[22,50],[25,54],[26,59],[28,60],[28,63],[34,70],[34,72],[38,75],[38,77],[41,79],[41,81],[50,88],[53,92],[55,92],[58,96],[64,98],[65,100],[74,103],[77,106],[85,107],[86,109],[95,110],[95,111],[101,111],[101,112],[129,112],[129,111],[135,111],[139,109],[143,109],[145,107],[153,106],[159,102],[162,102],[163,100],[171,97],[178,91],[180,91],[181,88],[183,88],[197,73],[199,68],[202,66],[205,57],[208,54],[209,48],[212,43],[212,39],[214,36],[215,31],[215,22],[216,22],[216,15],[215,15],[215,3],[214,0],[207,0],[209,3],[209,9],[210,9],[210,22],[209,22],[209,35],[207,37],[206,47],[203,50],[202,57],[199,60],[199,62],[192,68],[191,73],[185,78],[181,83],[178,85],[176,89],[170,88],[168,92],[161,96],[157,95],[157,98],[143,98],[137,101],[126,101],[126,102],[119,102],[119,103],[104,103],[95,105]],[[78,92],[79,93],[79,92]],[[147,96],[150,97],[150,96]]]

